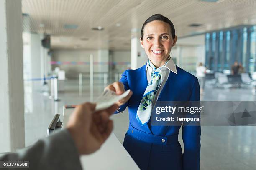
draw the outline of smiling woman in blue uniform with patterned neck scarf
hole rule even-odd
[[[146,65],[126,70],[120,82],[107,87],[117,94],[128,89],[133,92],[118,102],[118,111],[127,106],[129,110],[130,124],[123,146],[142,170],[199,170],[200,126],[182,126],[182,153],[180,125],[150,123],[156,101],[200,100],[197,78],[177,67],[170,57],[177,41],[174,25],[161,14],[152,15],[141,28],[140,41],[148,56]]]

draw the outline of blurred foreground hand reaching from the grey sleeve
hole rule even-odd
[[[118,105],[94,112],[95,106],[92,103],[78,105],[67,123],[79,154],[90,154],[98,150],[113,130],[113,121],[109,117]]]

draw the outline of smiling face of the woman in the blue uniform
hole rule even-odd
[[[156,67],[161,67],[168,59],[176,41],[176,36],[172,38],[169,24],[155,20],[145,25],[141,47],[145,49],[149,60]]]

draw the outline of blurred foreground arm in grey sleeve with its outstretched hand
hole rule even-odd
[[[29,168],[18,170],[82,170],[79,155],[93,153],[105,142],[113,129],[109,117],[118,108],[115,104],[95,112],[95,106],[92,103],[77,106],[67,128],[28,148],[5,154],[0,161],[29,161]]]

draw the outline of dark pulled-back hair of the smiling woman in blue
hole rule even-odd
[[[161,15],[161,14],[155,14],[155,15],[152,15],[151,17],[149,17],[145,21],[145,23],[142,25],[142,28],[141,28],[141,40],[143,40],[144,27],[147,25],[147,23],[150,23],[150,22],[155,21],[155,20],[159,20],[159,21],[163,21],[165,23],[168,23],[170,25],[170,28],[171,28],[172,38],[175,38],[175,29],[174,29],[174,25],[173,25],[172,21],[169,20],[167,17]]]

